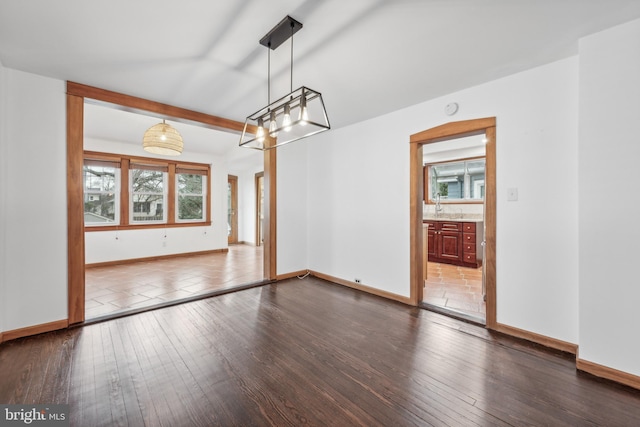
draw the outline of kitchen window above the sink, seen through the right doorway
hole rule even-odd
[[[440,194],[442,202],[484,200],[485,159],[477,158],[427,165],[429,202]]]

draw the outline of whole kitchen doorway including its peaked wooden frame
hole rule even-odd
[[[446,184],[446,173],[440,174],[443,178],[440,181],[437,176],[434,179],[433,176],[429,178],[429,175],[425,175],[425,155],[431,159],[427,163],[436,164],[439,163],[436,152],[440,151],[441,155],[444,152],[448,156],[455,154],[446,153],[451,151],[450,147],[444,145],[448,150],[438,150],[435,144],[452,140],[461,141],[466,137],[475,137],[482,141],[482,135],[484,135],[485,150],[484,177],[476,176],[474,179],[464,177],[456,179],[455,182],[449,177],[451,182],[449,186]],[[495,117],[451,122],[427,129],[411,135],[410,143],[411,301],[416,306],[440,311],[464,320],[484,323],[487,328],[495,329],[497,323]],[[466,168],[466,172],[472,172],[470,165],[465,163],[476,161],[480,156],[457,154],[457,156],[454,155],[454,159],[448,160],[462,162],[463,171]],[[443,159],[439,160],[446,163]],[[450,169],[456,169],[455,165],[447,166]],[[448,190],[451,190],[451,194]],[[457,197],[473,198],[474,191],[475,198],[478,199],[475,203],[469,203],[469,200],[454,200],[456,194]],[[443,203],[445,194],[447,201]],[[480,195],[483,196],[483,202]],[[475,207],[468,211],[467,207],[462,207],[465,204],[475,205]],[[431,264],[431,262],[442,260],[448,262]],[[458,270],[458,267],[471,267],[471,270]],[[442,271],[443,269],[446,271]],[[434,297],[427,288],[427,280],[430,279],[440,286],[442,294],[439,301],[429,300]],[[481,321],[480,316],[473,316],[466,312],[467,310],[461,310],[464,308],[464,306],[460,307],[462,304],[458,304],[455,310],[454,307],[447,307],[445,293],[453,294],[456,291],[447,287],[446,284],[449,282],[453,283],[451,288],[458,286],[458,291],[466,291],[467,298],[475,299],[478,303],[478,311],[484,308],[484,322]],[[473,292],[471,285],[473,285]],[[476,296],[478,285],[480,292]],[[477,301],[478,299],[480,301]]]

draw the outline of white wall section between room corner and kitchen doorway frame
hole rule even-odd
[[[411,132],[397,117],[309,140],[309,269],[409,295]]]

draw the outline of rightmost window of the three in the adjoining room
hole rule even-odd
[[[176,217],[181,222],[203,221],[206,212],[206,181],[200,171],[178,169],[176,187],[178,202]]]

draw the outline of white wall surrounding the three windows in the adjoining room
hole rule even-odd
[[[91,151],[152,157],[139,145],[85,139]],[[227,247],[227,165],[216,156],[184,152],[185,162],[211,165],[211,226],[155,228],[148,230],[85,231],[87,264],[201,252]]]

